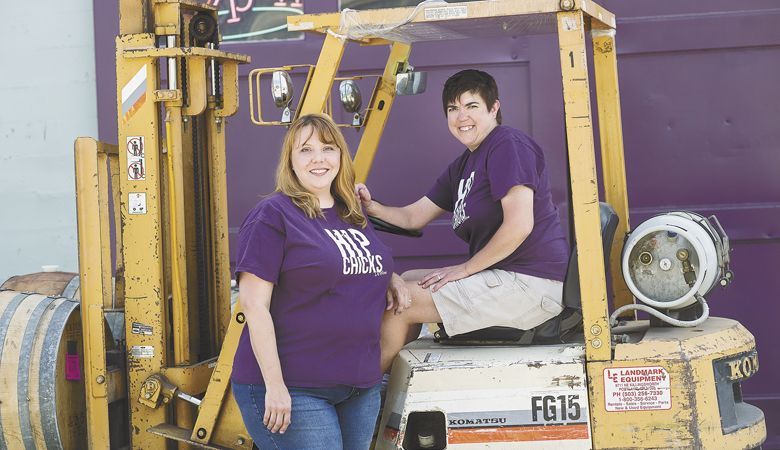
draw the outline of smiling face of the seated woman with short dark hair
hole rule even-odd
[[[498,126],[498,100],[490,107],[476,92],[464,92],[447,104],[447,126],[450,133],[472,152]]]

